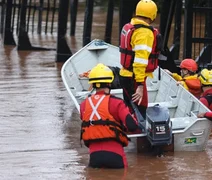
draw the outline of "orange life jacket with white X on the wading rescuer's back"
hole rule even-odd
[[[82,115],[81,139],[88,147],[90,142],[116,140],[123,146],[128,145],[124,125],[109,113],[110,95],[92,95],[86,99]]]

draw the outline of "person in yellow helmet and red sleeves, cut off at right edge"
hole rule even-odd
[[[203,94],[200,101],[212,111],[212,70],[203,69],[199,79],[202,83]],[[212,112],[200,113],[198,117],[205,117],[212,120]]]

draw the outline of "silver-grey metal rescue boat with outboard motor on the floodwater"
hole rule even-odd
[[[80,103],[89,94],[95,93],[88,84],[89,71],[98,63],[121,68],[119,57],[118,47],[95,39],[64,63],[62,80],[78,112]],[[128,136],[147,137],[153,146],[172,144],[174,151],[205,150],[212,122],[198,118],[197,114],[210,110],[181,85],[177,85],[162,68],[154,71],[154,78],[147,79],[147,89],[149,104],[147,119],[142,120],[144,131]],[[111,93],[123,98],[120,88],[112,89]],[[168,109],[169,117],[155,116],[157,107]]]

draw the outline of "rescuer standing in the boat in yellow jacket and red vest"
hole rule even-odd
[[[135,17],[123,26],[120,36],[120,84],[124,100],[133,112],[134,103],[146,117],[148,105],[146,78],[153,77],[158,66],[162,45],[161,35],[150,26],[157,16],[157,5],[152,0],[140,0]]]

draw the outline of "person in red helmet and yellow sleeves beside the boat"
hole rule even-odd
[[[177,73],[171,73],[168,69],[165,69],[165,71],[169,75],[171,75],[176,81],[178,81],[178,84],[182,84],[185,89],[199,98],[202,93],[202,89],[201,82],[198,78],[198,74],[196,73],[197,70],[197,63],[193,59],[184,59],[180,63],[181,75]]]

